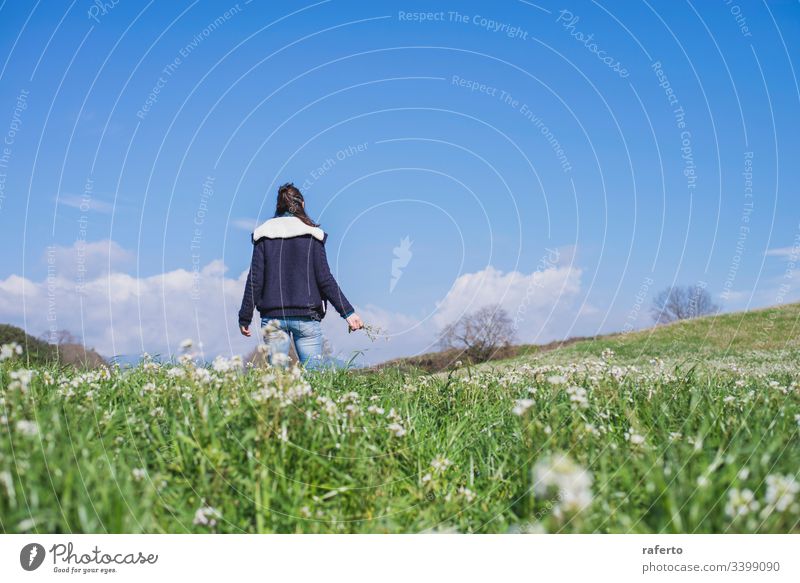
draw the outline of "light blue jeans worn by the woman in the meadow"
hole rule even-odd
[[[289,358],[289,342],[294,342],[297,357],[307,369],[322,365],[322,323],[308,316],[261,318],[262,329],[277,322],[265,335],[270,364],[284,364]],[[279,356],[280,355],[280,356]]]

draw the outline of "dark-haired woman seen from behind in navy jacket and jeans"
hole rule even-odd
[[[250,336],[253,307],[258,308],[272,364],[288,359],[290,337],[307,368],[322,363],[321,320],[328,302],[350,330],[364,327],[331,275],[327,238],[306,214],[303,195],[292,183],[278,189],[275,217],[253,231],[253,260],[239,310],[239,330]]]

